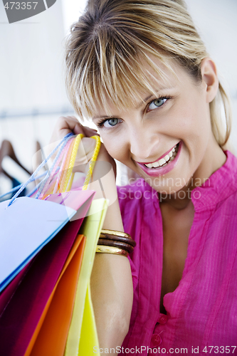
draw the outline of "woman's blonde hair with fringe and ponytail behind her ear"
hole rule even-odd
[[[154,93],[141,60],[164,73],[149,54],[168,67],[167,57],[173,58],[201,80],[201,61],[208,53],[183,0],[89,0],[66,42],[66,88],[78,115],[92,117],[96,108],[106,108],[108,98],[125,108],[137,101],[134,87]],[[210,112],[216,141],[223,147],[231,131],[231,111],[221,84]]]

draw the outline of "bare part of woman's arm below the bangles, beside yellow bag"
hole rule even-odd
[[[132,310],[132,277],[127,257],[96,253],[90,286],[99,345],[116,350],[127,335]]]

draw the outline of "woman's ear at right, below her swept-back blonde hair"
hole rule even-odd
[[[206,87],[206,103],[211,103],[219,87],[216,64],[211,58],[204,58],[201,61],[201,77]]]

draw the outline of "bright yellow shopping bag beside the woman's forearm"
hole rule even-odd
[[[86,236],[86,243],[65,356],[90,356],[93,355],[93,347],[98,347],[95,316],[90,298],[90,274],[107,205],[106,199],[94,200],[90,206],[89,214],[80,228],[80,234]]]

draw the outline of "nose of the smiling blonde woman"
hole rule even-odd
[[[158,135],[150,130],[145,130],[144,127],[140,130],[133,129],[130,132],[130,152],[132,158],[137,162],[143,162],[145,159],[153,157],[158,145]]]

